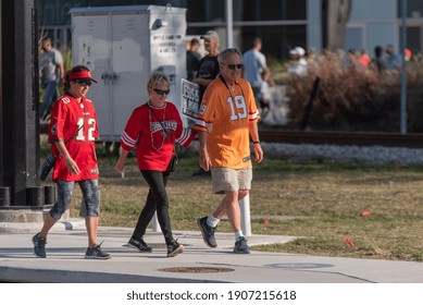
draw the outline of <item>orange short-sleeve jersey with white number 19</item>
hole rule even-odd
[[[212,131],[207,148],[212,168],[242,169],[251,166],[249,124],[259,119],[250,84],[235,81],[227,87],[223,77],[216,77],[207,88],[197,118],[196,130]]]

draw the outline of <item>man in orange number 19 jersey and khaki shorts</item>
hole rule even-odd
[[[254,146],[254,159],[263,160],[259,141],[254,95],[250,84],[240,77],[241,54],[231,48],[219,54],[221,74],[207,88],[196,130],[200,139],[200,166],[211,170],[212,192],[224,194],[213,215],[197,220],[206,244],[216,247],[214,231],[227,215],[235,232],[235,253],[250,253],[240,229],[239,200],[251,190],[252,167],[249,136]],[[211,131],[208,124],[212,124]]]

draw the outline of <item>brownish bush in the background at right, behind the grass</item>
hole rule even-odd
[[[419,120],[423,114],[422,74],[421,61],[408,63],[409,132],[423,131]],[[348,62],[341,52],[326,52],[309,68],[308,76],[288,80],[290,127],[301,125],[316,77],[320,86],[308,120],[312,130],[399,132],[400,72],[378,73],[373,66]]]

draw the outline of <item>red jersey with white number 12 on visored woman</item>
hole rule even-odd
[[[99,137],[97,113],[94,103],[88,98],[78,99],[70,94],[61,96],[53,105],[50,119],[49,142],[51,150],[58,152],[55,142],[63,138],[72,159],[75,160],[80,173],[71,173],[59,154],[52,179],[64,181],[82,181],[98,179],[98,161],[95,142]]]

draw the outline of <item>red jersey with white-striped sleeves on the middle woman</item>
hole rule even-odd
[[[175,141],[188,147],[195,135],[183,126],[179,112],[172,102],[166,101],[164,108],[147,102],[130,114],[121,136],[121,146],[125,150],[136,147],[139,170],[165,171]]]

